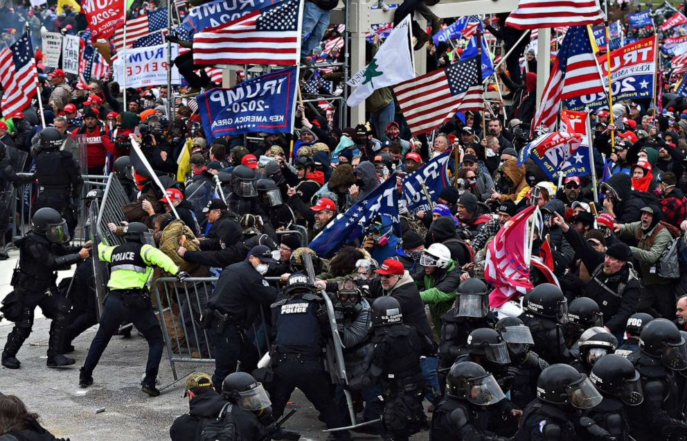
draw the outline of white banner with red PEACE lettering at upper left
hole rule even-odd
[[[172,44],[171,58],[179,56],[179,45]],[[126,72],[122,57],[113,59],[114,80],[127,87],[146,87],[167,84],[167,45],[145,46],[126,51]],[[126,75],[126,83],[124,76]],[[172,66],[172,85],[181,84],[181,75]]]

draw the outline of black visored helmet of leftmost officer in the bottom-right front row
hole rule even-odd
[[[446,376],[446,395],[488,406],[506,398],[494,376],[472,361],[454,363]]]

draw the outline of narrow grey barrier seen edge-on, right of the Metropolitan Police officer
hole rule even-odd
[[[315,270],[312,265],[312,257],[307,252],[301,254],[301,259],[303,260],[303,267],[307,273],[307,278],[310,280],[310,284],[315,285]],[[339,383],[341,385],[348,384],[348,377],[346,377],[346,364],[343,362],[343,342],[341,342],[341,336],[339,335],[339,327],[337,326],[336,315],[334,315],[334,304],[326,291],[322,290],[320,295],[322,296],[325,306],[327,308],[327,315],[329,316],[329,325],[332,329],[332,338],[327,341],[327,370],[329,371],[330,377],[334,383]],[[343,390],[346,395],[346,403],[348,404],[348,412],[350,413],[350,422],[355,424],[355,410],[353,410],[353,399],[350,397],[350,392],[348,390]]]

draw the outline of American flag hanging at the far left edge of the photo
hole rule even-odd
[[[38,72],[28,32],[0,51],[0,85],[5,91],[0,102],[3,116],[21,112],[36,94]]]

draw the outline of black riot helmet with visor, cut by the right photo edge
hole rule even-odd
[[[675,323],[665,318],[654,318],[642,329],[639,349],[644,354],[661,358],[661,363],[672,370],[687,369],[687,347]]]

